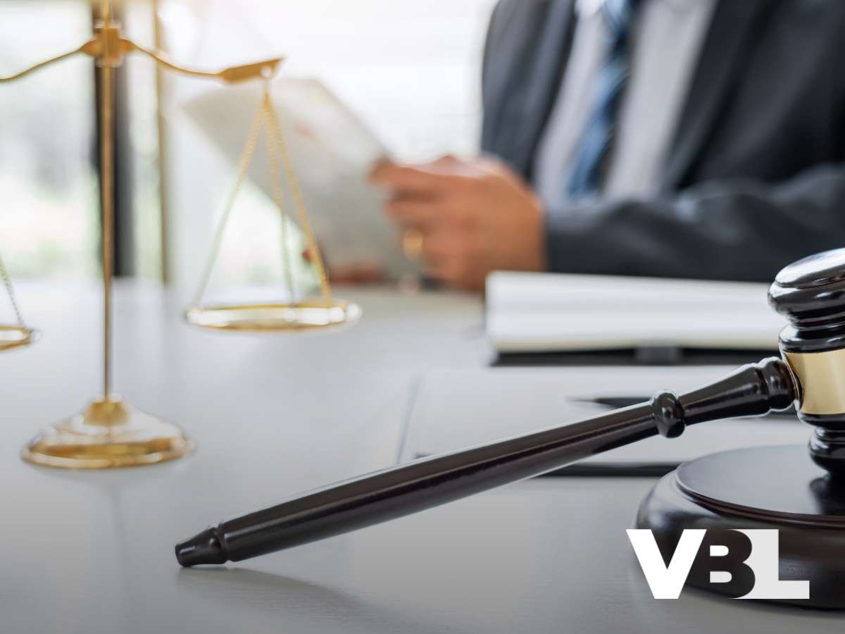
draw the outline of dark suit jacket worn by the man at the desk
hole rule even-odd
[[[482,150],[529,181],[573,0],[500,0]],[[552,271],[771,281],[845,246],[845,0],[719,0],[654,199],[548,210]],[[667,55],[671,55],[667,51]]]

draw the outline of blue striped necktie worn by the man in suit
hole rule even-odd
[[[608,29],[608,57],[596,77],[596,90],[586,129],[576,146],[566,182],[570,199],[596,196],[602,185],[616,131],[619,101],[630,76],[630,32],[641,0],[604,0],[602,15]]]

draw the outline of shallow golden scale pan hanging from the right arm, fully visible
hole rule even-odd
[[[334,299],[297,303],[254,303],[194,306],[185,313],[188,324],[215,331],[325,331],[352,325],[361,317],[357,303]]]

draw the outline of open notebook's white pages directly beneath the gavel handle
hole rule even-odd
[[[440,369],[412,394],[401,462],[455,451],[610,410],[588,399],[676,392],[716,380],[731,367]],[[679,438],[656,436],[593,456],[555,474],[660,475],[714,451],[757,445],[803,445],[810,428],[792,416],[699,424]]]

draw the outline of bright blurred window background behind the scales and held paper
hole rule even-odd
[[[426,160],[477,149],[492,8],[493,0],[136,0],[116,13],[128,36],[186,66],[289,57],[281,76],[323,80],[395,156]],[[79,46],[97,11],[85,0],[0,0],[0,74]],[[234,176],[182,112],[209,87],[139,57],[117,73],[118,275],[186,288],[199,276]],[[0,86],[0,254],[16,279],[99,275],[96,89],[87,57]],[[262,281],[266,254],[253,240],[272,207],[257,189],[243,198],[226,276]]]

